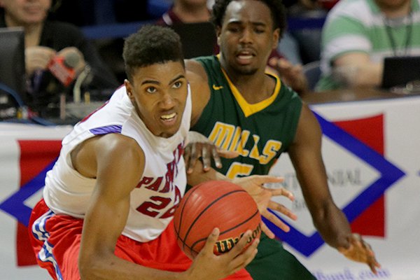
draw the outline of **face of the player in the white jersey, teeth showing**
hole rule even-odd
[[[186,106],[186,71],[181,62],[152,64],[137,69],[127,94],[141,120],[154,135],[171,137],[181,126]]]

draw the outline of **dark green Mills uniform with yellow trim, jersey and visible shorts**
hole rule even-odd
[[[276,159],[293,142],[302,100],[278,77],[267,73],[276,80],[272,96],[248,104],[230,82],[218,57],[198,57],[197,61],[207,72],[211,95],[191,130],[204,134],[225,150],[239,152],[238,158],[221,158],[223,167],[218,171],[229,178],[268,174]],[[258,254],[246,270],[254,280],[315,279],[294,255],[284,250],[281,242],[264,234]]]

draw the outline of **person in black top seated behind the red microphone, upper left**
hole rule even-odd
[[[47,20],[57,8],[52,0],[0,0],[0,27],[25,29],[25,60],[29,106],[40,116],[48,115],[48,106],[58,104],[59,93],[71,92],[48,71],[48,63],[57,55],[77,57],[76,74],[87,65],[92,73],[90,90],[113,89],[119,85],[116,77],[102,61],[97,50],[78,27],[67,22]]]

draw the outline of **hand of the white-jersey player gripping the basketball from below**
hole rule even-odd
[[[255,239],[244,251],[248,238],[251,238],[251,230],[245,232],[244,236],[239,239],[238,243],[228,253],[215,255],[214,246],[219,234],[220,232],[217,228],[211,232],[202,251],[195,257],[190,268],[183,273],[185,277],[182,279],[223,279],[246,267],[255,258],[260,239]]]

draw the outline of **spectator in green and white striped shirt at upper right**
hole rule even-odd
[[[323,27],[316,90],[381,85],[384,57],[420,55],[420,0],[341,0]]]

